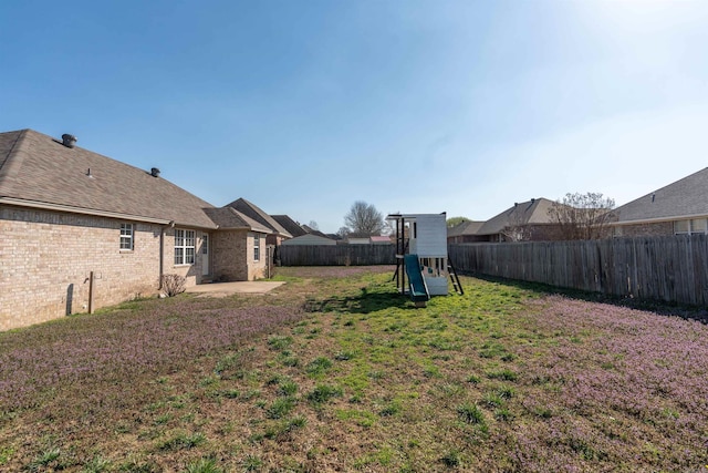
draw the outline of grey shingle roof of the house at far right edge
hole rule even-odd
[[[708,167],[617,207],[615,224],[702,217],[708,215],[707,197]]]

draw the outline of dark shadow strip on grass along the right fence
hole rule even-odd
[[[462,275],[462,273],[460,273]],[[662,316],[680,317],[687,320],[697,320],[708,323],[708,310],[705,307],[687,306],[664,300],[635,299],[629,297],[618,297],[602,292],[587,292],[580,289],[571,289],[551,286],[542,282],[521,281],[516,279],[504,279],[496,276],[465,273],[465,276],[473,277],[489,282],[503,284],[520,289],[533,290],[548,295],[561,295],[572,299],[585,300],[589,302],[610,304],[617,307],[645,310]]]

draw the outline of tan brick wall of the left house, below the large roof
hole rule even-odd
[[[132,223],[134,249],[121,250],[121,224]],[[163,227],[154,224],[0,206],[0,330],[154,296]],[[197,237],[200,238],[197,232]],[[198,265],[174,266],[174,230],[164,237],[164,273],[194,285]]]

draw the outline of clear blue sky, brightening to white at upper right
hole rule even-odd
[[[0,130],[336,232],[708,166],[708,1],[3,1]]]

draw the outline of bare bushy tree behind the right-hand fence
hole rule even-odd
[[[549,216],[559,224],[563,239],[598,239],[608,233],[615,200],[601,193],[565,194],[549,207]]]

